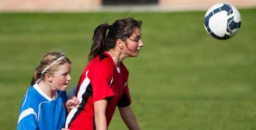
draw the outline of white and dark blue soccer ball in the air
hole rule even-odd
[[[229,39],[241,27],[240,13],[229,3],[216,3],[205,13],[204,27],[216,39]]]

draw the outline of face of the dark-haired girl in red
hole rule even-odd
[[[143,42],[141,41],[141,30],[139,28],[134,29],[133,34],[130,38],[125,41],[126,46],[123,51],[128,57],[137,57]]]

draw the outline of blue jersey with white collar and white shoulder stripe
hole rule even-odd
[[[24,95],[17,130],[61,130],[65,126],[66,101],[66,92],[57,91],[53,100],[34,84]]]

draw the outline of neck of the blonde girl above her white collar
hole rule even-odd
[[[56,99],[56,90],[52,90],[51,86],[45,83],[45,81],[40,81],[40,83],[38,83],[38,86],[51,99]]]

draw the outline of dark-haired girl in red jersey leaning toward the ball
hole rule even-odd
[[[134,18],[122,18],[112,25],[101,24],[94,30],[89,62],[76,90],[81,106],[71,110],[66,128],[106,130],[118,106],[127,127],[140,129],[130,108],[129,72],[122,60],[137,57],[143,47],[141,23]]]

